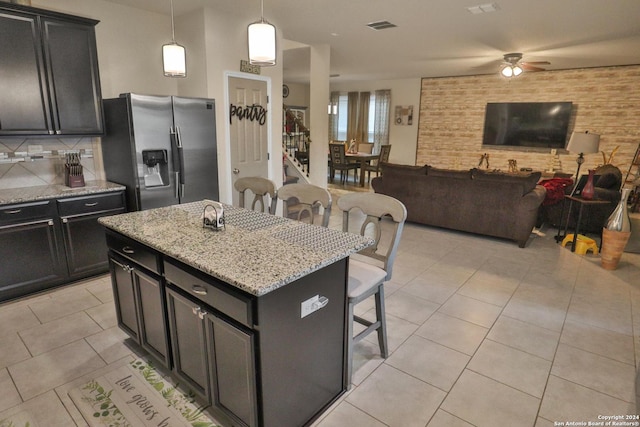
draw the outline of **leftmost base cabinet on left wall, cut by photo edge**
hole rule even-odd
[[[66,279],[58,221],[55,200],[0,208],[0,301]]]

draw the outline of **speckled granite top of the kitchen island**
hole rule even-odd
[[[357,234],[224,205],[225,228],[203,228],[203,202],[102,217],[125,236],[255,296],[358,252]]]

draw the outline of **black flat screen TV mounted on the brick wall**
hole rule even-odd
[[[531,148],[564,148],[571,102],[488,103],[483,145]]]

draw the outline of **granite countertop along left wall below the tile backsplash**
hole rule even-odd
[[[109,181],[87,181],[84,187],[67,187],[62,184],[38,185],[36,187],[9,188],[0,190],[0,205],[27,203],[36,200],[61,197],[87,196],[124,190],[125,186]]]

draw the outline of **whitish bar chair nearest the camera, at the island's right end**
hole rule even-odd
[[[341,196],[337,203],[343,211],[342,231],[349,232],[351,221],[354,225],[360,224],[361,235],[375,240],[373,246],[349,258],[347,378],[350,387],[355,344],[373,331],[377,331],[380,355],[387,358],[389,354],[384,313],[384,282],[391,279],[393,262],[407,219],[407,209],[399,200],[378,193],[350,193]],[[383,244],[380,244],[381,241]],[[362,260],[355,259],[360,256]],[[372,295],[375,299],[376,314],[373,322],[354,314],[354,307]],[[353,335],[354,322],[366,327],[356,336]]]

